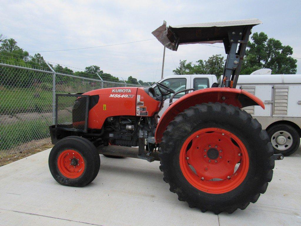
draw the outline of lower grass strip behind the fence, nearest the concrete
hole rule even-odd
[[[0,150],[12,149],[21,143],[49,137],[49,121],[19,121],[7,125],[0,124]]]

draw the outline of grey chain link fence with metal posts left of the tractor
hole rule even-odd
[[[55,93],[125,86],[140,85],[0,63],[0,157],[50,142]]]

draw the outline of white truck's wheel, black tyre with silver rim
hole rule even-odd
[[[293,154],[300,145],[300,136],[291,126],[278,124],[267,130],[274,147],[275,154],[289,156]]]

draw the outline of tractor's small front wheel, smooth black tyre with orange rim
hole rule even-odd
[[[89,140],[70,136],[54,145],[49,154],[48,165],[58,183],[83,187],[97,176],[100,156]]]

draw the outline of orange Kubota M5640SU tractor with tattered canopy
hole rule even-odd
[[[233,213],[256,202],[272,180],[275,160],[283,159],[273,155],[259,122],[241,110],[264,108],[263,102],[235,89],[251,29],[258,24],[258,19],[181,26],[164,21],[152,32],[173,51],[182,44],[223,43],[227,58],[221,85],[176,92],[156,83],[56,94],[48,159],[54,179],[82,187],[97,176],[99,154],[132,157],[160,161],[170,191],[202,212]],[[166,96],[170,104],[158,121]]]

